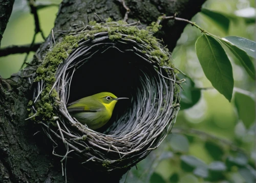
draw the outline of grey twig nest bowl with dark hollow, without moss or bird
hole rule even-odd
[[[61,161],[75,155],[91,170],[131,167],[156,149],[175,123],[179,94],[174,68],[159,61],[160,56],[151,56],[156,48],[148,43],[120,35],[115,41],[109,39],[108,32],[81,39],[58,65],[52,86],[58,93],[58,99],[53,99],[58,103],[54,107],[56,125],[41,124],[55,144],[66,146],[67,152],[57,154]],[[157,51],[170,58],[162,48],[159,44]],[[35,88],[35,103],[44,82]],[[70,116],[67,104],[103,91],[129,98],[117,102],[105,126],[92,130]]]

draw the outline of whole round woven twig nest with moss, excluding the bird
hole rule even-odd
[[[138,24],[138,23],[136,23]],[[54,146],[92,170],[129,168],[156,149],[179,110],[176,73],[168,50],[136,24],[80,25],[50,48],[37,69],[30,118]],[[108,124],[94,131],[72,118],[66,105],[102,91],[129,97]]]

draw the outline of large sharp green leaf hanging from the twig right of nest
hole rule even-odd
[[[221,44],[203,34],[196,41],[196,52],[205,76],[230,102],[234,86],[232,66]]]

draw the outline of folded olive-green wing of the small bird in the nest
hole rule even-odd
[[[102,110],[102,107],[104,107],[104,105],[102,105],[100,102],[91,102],[93,103],[90,104],[90,102],[87,102],[89,104],[85,104],[82,99],[80,100],[77,100],[75,102],[72,102],[70,104],[68,104],[68,111],[69,112],[74,112],[74,111],[88,111],[88,112],[97,112],[97,111],[100,111]]]

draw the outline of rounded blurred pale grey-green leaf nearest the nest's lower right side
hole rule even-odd
[[[170,147],[176,152],[188,152],[189,142],[185,135],[170,134]]]

